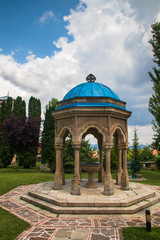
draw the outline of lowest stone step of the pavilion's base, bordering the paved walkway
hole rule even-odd
[[[63,207],[34,198],[26,193],[21,195],[21,199],[57,214],[133,214],[156,204],[160,201],[160,196],[155,195],[132,206],[126,207]]]

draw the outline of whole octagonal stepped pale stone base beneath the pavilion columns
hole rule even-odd
[[[103,194],[103,183],[96,189],[85,188],[81,183],[81,195],[71,195],[71,180],[66,180],[63,190],[53,190],[54,182],[31,185],[21,199],[57,214],[133,214],[160,201],[160,194],[148,185],[130,182],[124,191],[114,183],[114,195]]]

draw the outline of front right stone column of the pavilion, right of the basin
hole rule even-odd
[[[106,149],[106,174],[104,177],[104,195],[113,195],[113,180],[111,176],[111,146]]]

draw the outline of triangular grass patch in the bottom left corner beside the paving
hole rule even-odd
[[[0,239],[14,240],[30,224],[0,208]]]

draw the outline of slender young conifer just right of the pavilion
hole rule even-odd
[[[139,151],[137,129],[135,128],[134,129],[134,137],[133,137],[133,149],[131,152],[131,160],[132,160],[131,169],[134,168],[135,173],[141,169],[139,153],[140,153],[140,151]]]

